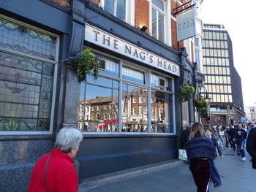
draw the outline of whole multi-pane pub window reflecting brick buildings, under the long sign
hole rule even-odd
[[[105,69],[98,79],[88,76],[80,85],[78,128],[94,134],[174,134],[173,80],[117,58],[99,58]]]

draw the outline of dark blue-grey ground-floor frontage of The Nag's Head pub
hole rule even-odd
[[[170,3],[149,6],[156,2]],[[203,74],[184,43],[166,42],[174,31],[154,37],[97,1],[10,0],[0,10],[1,191],[26,191],[63,127],[83,132],[80,182],[178,158],[181,131],[197,120],[193,99],[181,103],[178,89],[189,82],[197,95]],[[78,81],[83,48],[99,56],[97,80]]]

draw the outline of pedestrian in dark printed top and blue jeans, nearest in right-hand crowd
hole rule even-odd
[[[246,161],[245,153],[244,153],[244,145],[246,141],[246,131],[242,128],[241,124],[238,124],[238,129],[236,130],[236,134],[234,135],[233,141],[236,142],[236,146],[238,148],[238,155],[241,155],[241,161]]]

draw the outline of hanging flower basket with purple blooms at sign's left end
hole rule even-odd
[[[94,55],[89,49],[84,49],[81,53],[75,56],[75,66],[79,82],[86,80],[86,75],[89,74],[98,78],[99,74],[99,55]]]

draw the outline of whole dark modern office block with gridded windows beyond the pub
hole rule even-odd
[[[233,48],[223,25],[203,25],[202,94],[211,97],[211,125],[235,125],[244,117],[244,101],[239,76],[233,62]],[[206,122],[204,122],[206,123]]]

